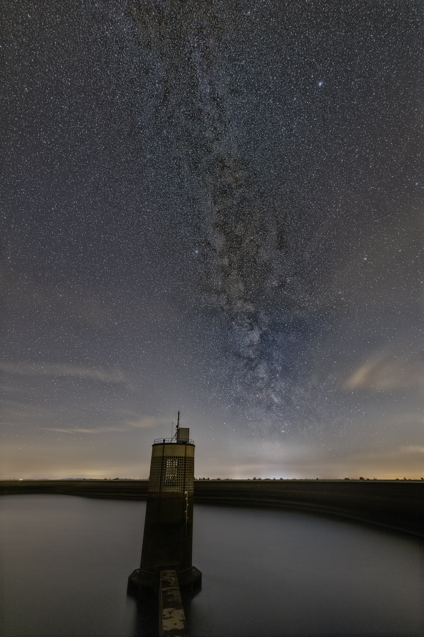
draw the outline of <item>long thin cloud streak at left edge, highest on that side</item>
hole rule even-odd
[[[0,371],[20,376],[74,376],[100,380],[104,383],[129,384],[127,377],[120,369],[105,371],[100,368],[85,368],[79,365],[0,361]]]

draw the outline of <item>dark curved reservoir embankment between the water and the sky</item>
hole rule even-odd
[[[144,500],[147,480],[3,480],[0,495],[63,494]],[[195,502],[342,515],[424,537],[421,480],[196,480]]]

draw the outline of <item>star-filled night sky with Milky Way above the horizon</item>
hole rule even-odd
[[[3,11],[0,478],[424,475],[423,4]]]

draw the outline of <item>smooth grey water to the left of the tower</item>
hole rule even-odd
[[[145,503],[0,497],[0,634],[132,636]]]

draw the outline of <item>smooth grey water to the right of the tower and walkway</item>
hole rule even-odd
[[[422,635],[423,544],[334,517],[197,506],[191,637]]]

